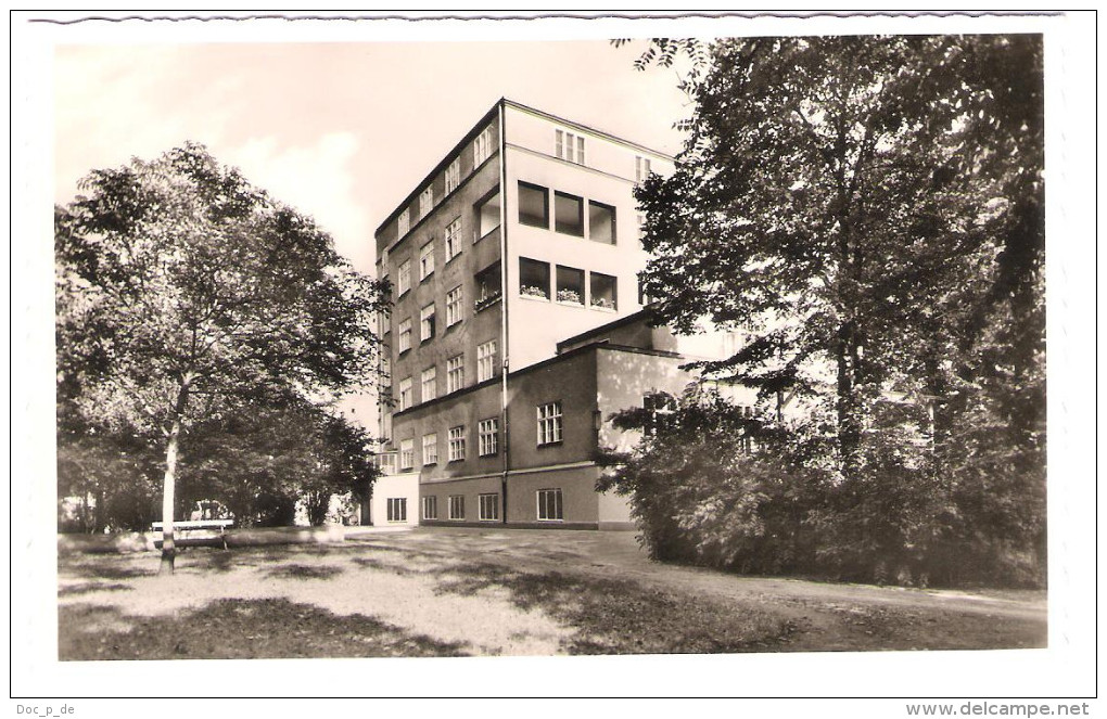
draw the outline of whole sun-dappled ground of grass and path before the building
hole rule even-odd
[[[674,654],[1044,646],[1044,595],[758,580],[623,533],[420,529],[342,544],[69,555],[61,659]]]

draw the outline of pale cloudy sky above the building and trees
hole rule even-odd
[[[61,45],[54,201],[93,168],[203,143],[359,270],[373,231],[500,96],[675,154],[690,113],[639,41]]]

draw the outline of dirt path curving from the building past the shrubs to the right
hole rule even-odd
[[[651,562],[632,533],[420,528],[348,541],[438,559],[466,558],[517,572],[631,580],[652,590],[713,597],[735,612],[769,611],[795,632],[779,650],[1044,647],[1045,592],[912,590],[735,576]]]

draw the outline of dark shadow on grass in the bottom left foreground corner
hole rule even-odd
[[[127,617],[114,607],[59,608],[61,660],[467,656],[360,614],[340,616],[282,598],[223,600],[176,617]]]

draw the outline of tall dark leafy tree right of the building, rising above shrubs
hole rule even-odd
[[[685,52],[689,139],[638,192],[658,321],[746,331],[702,366],[826,403],[834,528],[879,527],[842,539],[858,555],[966,536],[959,502],[991,490],[997,534],[1044,536],[1041,38],[654,41],[639,65]],[[879,427],[890,389],[929,398],[933,421]],[[892,481],[922,467],[902,456],[920,433],[928,479]],[[888,492],[922,512],[913,529]]]

